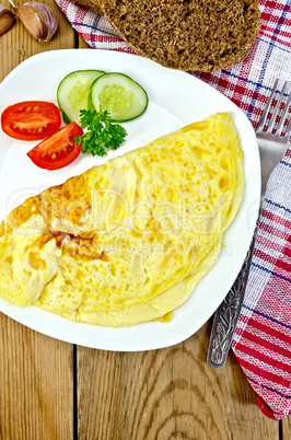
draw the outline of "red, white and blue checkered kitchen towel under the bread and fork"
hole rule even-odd
[[[132,53],[98,13],[56,0],[93,48]],[[291,0],[259,0],[261,28],[247,58],[231,69],[194,73],[231,99],[254,128],[276,78],[291,80]],[[249,281],[232,348],[257,403],[279,420],[291,414],[291,147],[272,173]]]

